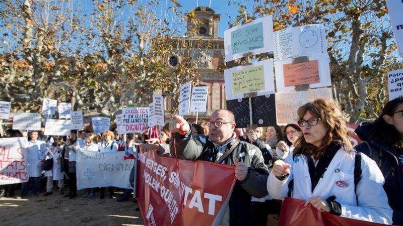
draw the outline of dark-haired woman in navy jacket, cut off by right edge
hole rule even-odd
[[[355,132],[366,141],[355,149],[375,160],[385,177],[393,225],[403,225],[403,97],[389,101],[374,123],[362,124]]]

